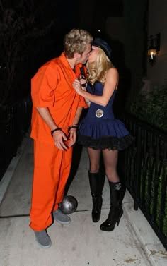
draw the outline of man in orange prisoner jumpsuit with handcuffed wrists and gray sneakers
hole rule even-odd
[[[71,30],[64,38],[64,52],[43,65],[32,79],[32,131],[34,139],[33,193],[30,227],[39,245],[51,246],[47,227],[52,216],[61,224],[71,219],[59,210],[71,168],[72,145],[84,98],[72,87],[74,68],[85,64],[92,37],[86,30]]]

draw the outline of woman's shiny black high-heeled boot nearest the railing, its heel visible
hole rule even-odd
[[[110,186],[110,212],[108,219],[100,225],[103,231],[113,231],[115,224],[119,225],[120,218],[122,217],[122,187],[121,183],[113,183],[109,181]]]

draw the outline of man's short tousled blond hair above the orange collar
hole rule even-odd
[[[74,57],[74,53],[82,55],[86,45],[92,41],[93,37],[86,30],[73,29],[64,37],[64,53],[69,59]]]

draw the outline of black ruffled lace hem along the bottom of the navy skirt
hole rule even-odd
[[[84,147],[91,147],[94,150],[125,150],[134,141],[132,135],[125,135],[122,138],[117,137],[102,137],[98,139],[93,139],[86,135],[78,135],[77,143],[83,145]]]

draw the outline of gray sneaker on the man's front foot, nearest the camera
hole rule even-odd
[[[52,242],[46,230],[34,231],[34,233],[35,233],[35,239],[41,248],[50,248]]]

